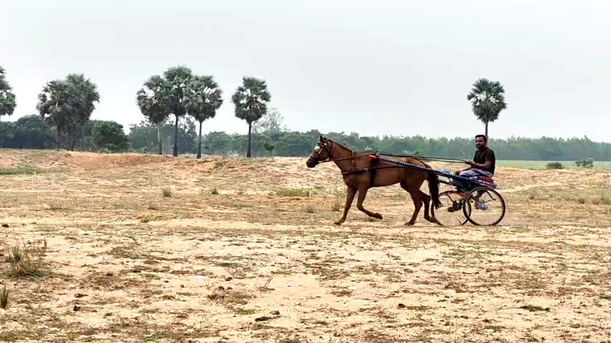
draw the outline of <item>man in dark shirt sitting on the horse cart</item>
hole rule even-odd
[[[466,178],[473,176],[486,176],[492,178],[496,166],[496,157],[494,156],[494,151],[488,148],[488,138],[485,135],[476,135],[475,147],[477,150],[475,150],[473,161],[465,162],[470,167],[463,170],[457,170],[454,174]],[[469,187],[466,182],[454,179],[452,183],[457,187],[459,193],[469,192]]]

